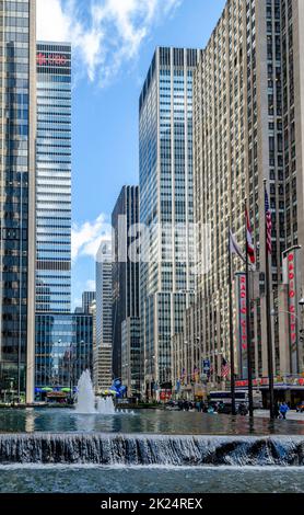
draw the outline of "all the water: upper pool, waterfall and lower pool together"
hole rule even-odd
[[[0,492],[304,492],[303,422],[94,410],[0,410]]]

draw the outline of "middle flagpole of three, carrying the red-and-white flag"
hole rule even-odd
[[[246,328],[247,328],[247,374],[248,374],[248,401],[249,401],[249,416],[254,416],[254,390],[253,390],[253,366],[252,366],[252,324],[250,324],[250,291],[249,291],[249,263],[248,263],[248,248],[247,248],[247,198],[245,198],[245,255],[246,255]]]

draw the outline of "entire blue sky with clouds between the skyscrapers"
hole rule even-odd
[[[37,0],[37,37],[73,45],[73,307],[124,184],[138,183],[138,99],[155,46],[202,48],[225,0]]]

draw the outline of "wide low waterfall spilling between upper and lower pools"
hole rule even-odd
[[[304,466],[304,436],[4,434],[0,464]]]

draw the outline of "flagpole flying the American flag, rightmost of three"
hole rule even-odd
[[[264,180],[264,197],[267,193],[267,180]],[[274,420],[274,386],[273,386],[273,351],[271,331],[271,300],[270,300],[270,274],[269,274],[269,252],[267,244],[267,213],[265,209],[265,266],[266,266],[266,323],[267,323],[267,355],[268,355],[268,378],[269,378],[269,404],[270,419]]]

